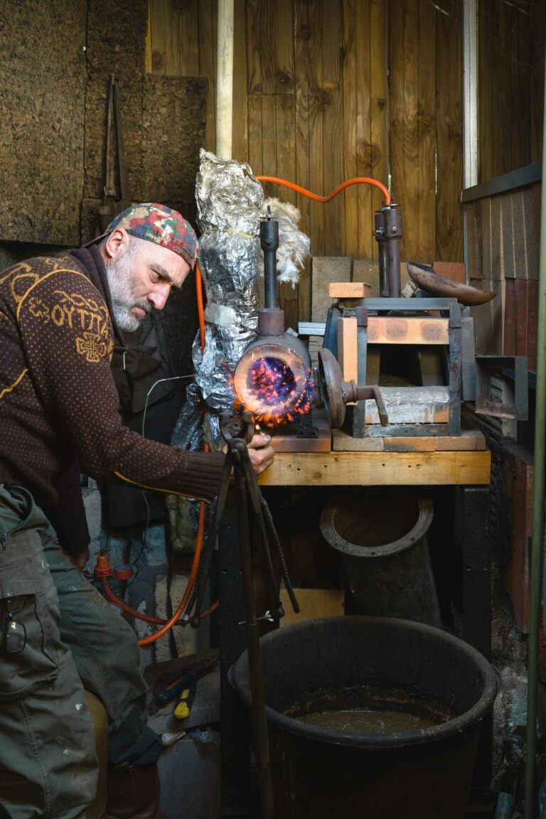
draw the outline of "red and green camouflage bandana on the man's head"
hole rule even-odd
[[[196,263],[197,237],[192,225],[177,210],[166,205],[155,202],[132,205],[116,216],[99,238],[108,236],[116,228],[124,228],[131,236],[156,242],[178,253],[192,269]]]

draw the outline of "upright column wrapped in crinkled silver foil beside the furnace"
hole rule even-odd
[[[197,221],[201,229],[199,266],[206,285],[205,350],[199,333],[192,357],[198,390],[187,391],[174,428],[174,446],[201,448],[201,396],[212,410],[211,435],[219,444],[217,413],[232,409],[233,373],[256,338],[259,276],[259,217],[264,192],[249,165],[201,149],[196,179]],[[201,396],[199,396],[201,391]],[[188,439],[187,430],[192,429]],[[210,441],[209,441],[210,442]]]

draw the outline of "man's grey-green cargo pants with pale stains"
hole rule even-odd
[[[0,817],[83,819],[97,787],[83,686],[109,762],[156,762],[133,629],[63,554],[29,492],[0,484]]]

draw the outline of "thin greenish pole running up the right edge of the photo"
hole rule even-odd
[[[545,71],[546,75],[546,71]],[[533,527],[530,550],[529,663],[527,671],[527,726],[525,817],[536,816],[536,717],[539,686],[540,593],[544,543],[544,440],[546,437],[546,88],[540,199],[539,328],[536,362],[535,452],[533,467]]]

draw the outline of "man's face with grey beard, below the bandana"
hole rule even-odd
[[[163,310],[170,288],[182,287],[189,272],[190,265],[174,251],[130,237],[124,253],[106,262],[118,327],[133,332],[151,310]]]

